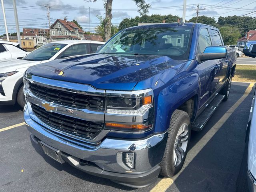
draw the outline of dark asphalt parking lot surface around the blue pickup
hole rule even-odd
[[[254,86],[232,83],[228,101],[222,102],[201,132],[192,132],[182,171],[173,178],[159,176],[158,182],[142,189],[128,188],[52,160],[30,142],[22,111],[0,106],[0,192],[234,192]]]

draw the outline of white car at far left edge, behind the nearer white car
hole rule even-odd
[[[0,40],[0,61],[10,58],[22,58],[27,54],[29,54],[29,52],[20,48],[20,44]]]

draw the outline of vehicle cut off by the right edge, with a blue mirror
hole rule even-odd
[[[256,41],[249,41],[244,48],[244,54],[256,57]],[[256,192],[256,102],[255,90],[248,124],[246,127],[246,146],[236,181],[237,192]]]

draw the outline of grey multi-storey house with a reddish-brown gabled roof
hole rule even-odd
[[[51,27],[52,41],[81,40],[84,39],[84,31],[74,22],[57,19]],[[50,38],[47,38],[49,41]]]

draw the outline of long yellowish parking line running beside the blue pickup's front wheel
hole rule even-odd
[[[212,126],[212,128],[190,149],[189,153],[186,156],[186,160],[180,172],[178,172],[172,178],[163,178],[161,179],[150,192],[165,192],[178,178],[182,171],[190,164],[190,162],[197,156],[197,154],[204,148],[204,146],[210,141],[210,139],[216,134],[216,132],[221,128],[221,126],[228,120],[232,113],[238,108],[238,106],[245,100],[248,94],[252,91],[254,83],[250,83],[248,88],[245,90],[244,94],[240,99]]]

